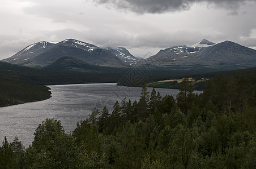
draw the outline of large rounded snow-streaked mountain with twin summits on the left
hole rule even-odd
[[[49,42],[34,43],[2,61],[32,68],[42,68],[63,56],[73,57],[93,65],[114,68],[127,67],[125,62],[112,52],[75,39],[66,39],[57,44]]]

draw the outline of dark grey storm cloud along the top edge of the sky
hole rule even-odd
[[[97,4],[105,4],[120,10],[133,11],[138,14],[162,14],[189,10],[194,3],[207,2],[215,7],[236,10],[246,1],[255,0],[93,0]],[[237,14],[231,12],[230,14]]]

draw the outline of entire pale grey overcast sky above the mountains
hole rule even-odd
[[[201,39],[256,49],[256,0],[0,0],[0,59],[74,38],[148,52]]]

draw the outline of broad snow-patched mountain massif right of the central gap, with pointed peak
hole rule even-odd
[[[231,41],[214,44],[203,39],[194,45],[160,50],[146,59],[145,64],[150,60],[156,69],[216,72],[255,67],[256,50]]]

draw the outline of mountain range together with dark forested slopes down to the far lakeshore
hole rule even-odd
[[[155,79],[253,68],[256,50],[230,41],[215,44],[203,39],[139,60],[124,47],[100,48],[66,39],[34,43],[1,60],[0,65],[2,75],[41,85],[120,82],[142,86]]]

